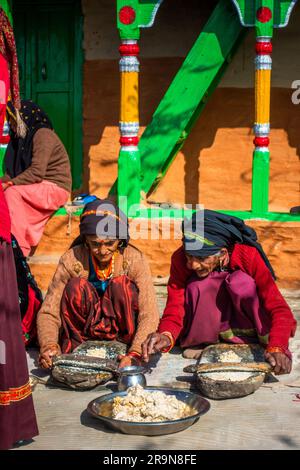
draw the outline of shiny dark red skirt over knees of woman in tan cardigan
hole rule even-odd
[[[88,339],[118,340],[131,344],[137,323],[138,290],[127,276],[113,278],[99,296],[82,278],[72,278],[61,300],[63,353]]]

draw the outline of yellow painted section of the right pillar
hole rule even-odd
[[[271,70],[255,72],[255,122],[270,122]]]

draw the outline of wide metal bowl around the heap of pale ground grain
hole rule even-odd
[[[160,436],[163,434],[173,434],[175,432],[183,431],[194,424],[199,417],[206,413],[210,408],[210,404],[205,400],[205,398],[185,390],[159,387],[146,387],[145,390],[148,390],[149,392],[160,391],[164,392],[166,395],[174,395],[178,400],[195,408],[197,413],[174,421],[161,421],[155,423],[120,421],[111,418],[111,405],[113,399],[115,397],[123,397],[127,392],[110,393],[100,398],[96,398],[88,404],[87,411],[115,431],[122,432],[124,434],[139,434],[141,436]]]

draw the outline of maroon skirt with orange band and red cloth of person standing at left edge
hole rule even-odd
[[[0,188],[0,449],[38,434],[22,340],[10,218]]]

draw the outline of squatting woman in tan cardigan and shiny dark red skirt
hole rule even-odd
[[[41,366],[91,339],[123,342],[128,352],[120,365],[139,363],[158,320],[151,272],[129,244],[127,217],[109,200],[88,203],[80,237],[61,257],[38,314]]]

